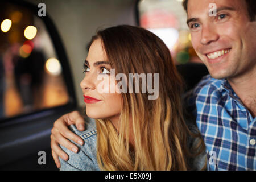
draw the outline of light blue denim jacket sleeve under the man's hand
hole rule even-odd
[[[72,143],[76,144],[77,148],[79,148],[79,152],[77,152],[77,154],[63,146],[60,146],[62,150],[69,155],[68,161],[59,158],[61,171],[100,170],[97,163],[97,133],[94,122],[94,120],[86,122],[85,131],[77,130],[75,125],[71,125],[69,127],[73,133],[79,135],[84,140],[84,146],[80,146],[70,140]]]

